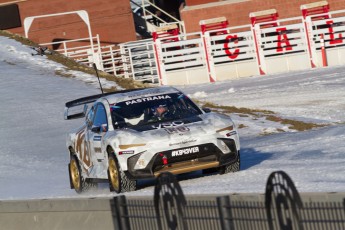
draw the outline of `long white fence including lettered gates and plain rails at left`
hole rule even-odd
[[[118,77],[183,85],[345,64],[345,10],[60,52]],[[320,19],[320,16],[323,19]],[[314,20],[318,17],[318,20]],[[269,23],[269,22],[268,22]],[[271,23],[272,25],[272,23]],[[47,45],[47,44],[44,44]]]

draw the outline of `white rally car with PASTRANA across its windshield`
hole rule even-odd
[[[83,112],[76,112],[80,106]],[[70,184],[78,193],[102,181],[120,193],[135,190],[138,179],[162,172],[228,173],[240,168],[239,137],[231,118],[199,108],[173,87],[66,103],[65,119],[83,116],[83,126],[67,136]]]

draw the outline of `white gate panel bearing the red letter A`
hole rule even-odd
[[[299,22],[289,24],[290,22]],[[277,21],[278,26],[263,28],[265,23],[254,26],[261,70],[265,74],[310,68],[303,18]],[[281,25],[281,24],[286,25]]]

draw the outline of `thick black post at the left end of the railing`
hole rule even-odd
[[[127,201],[126,196],[116,196],[114,197],[114,204],[115,204],[115,229],[120,230],[130,230],[129,224],[129,216],[128,216],[128,209],[127,209]]]

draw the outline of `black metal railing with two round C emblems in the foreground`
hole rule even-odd
[[[158,178],[154,200],[115,197],[122,229],[345,229],[345,197],[302,200],[290,177],[273,172],[265,196],[186,199],[171,174]],[[319,197],[320,198],[320,197]]]

